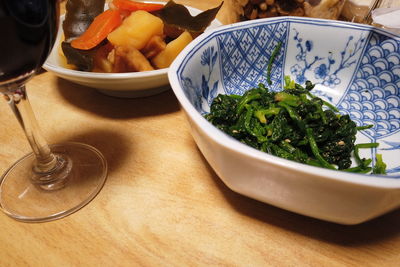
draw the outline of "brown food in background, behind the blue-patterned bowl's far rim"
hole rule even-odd
[[[226,0],[226,23],[276,16],[307,16],[337,19],[344,0]]]

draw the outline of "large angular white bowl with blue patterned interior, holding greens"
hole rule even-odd
[[[284,74],[317,83],[313,93],[374,127],[356,143],[379,142],[387,176],[333,171],[278,158],[246,146],[203,115],[217,93],[243,94],[266,84],[272,51],[272,90]],[[182,51],[169,80],[192,135],[216,174],[232,190],[296,213],[358,224],[400,206],[400,38],[360,24],[310,18],[271,18],[204,33]]]

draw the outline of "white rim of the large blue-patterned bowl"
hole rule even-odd
[[[183,92],[179,81],[177,73],[180,71],[182,63],[188,61],[186,57],[188,54],[191,55],[194,53],[196,48],[202,46],[205,42],[211,39],[214,35],[233,31],[239,28],[246,28],[251,26],[263,25],[265,23],[270,22],[279,22],[279,21],[289,21],[289,22],[316,22],[321,26],[345,26],[347,28],[354,29],[363,29],[363,30],[373,30],[375,32],[382,33],[384,35],[389,35],[395,39],[400,39],[400,36],[388,32],[386,30],[376,28],[370,25],[362,25],[352,22],[344,22],[344,21],[335,21],[328,19],[316,19],[316,18],[306,18],[306,17],[276,17],[276,18],[264,18],[257,19],[251,21],[244,21],[233,23],[230,25],[224,25],[216,29],[212,29],[208,32],[205,32],[198,36],[195,40],[193,40],[187,47],[183,49],[183,51],[178,55],[178,57],[174,60],[168,70],[168,79],[170,81],[171,88],[178,98],[181,106],[186,111],[187,115],[191,120],[196,123],[201,130],[207,135],[207,137],[217,143],[219,146],[224,147],[225,149],[234,151],[236,153],[240,153],[243,156],[248,158],[265,162],[267,164],[273,164],[275,166],[279,166],[285,169],[289,169],[291,171],[295,171],[298,173],[302,173],[305,175],[313,175],[319,176],[323,179],[335,180],[349,184],[356,184],[362,186],[376,187],[382,189],[400,189],[400,178],[396,177],[388,177],[388,176],[380,176],[380,175],[366,175],[366,174],[357,174],[357,173],[349,173],[349,172],[341,172],[337,170],[329,170],[321,167],[315,167],[307,164],[298,163],[295,161],[283,159],[277,156],[270,155],[268,153],[259,151],[255,148],[252,148],[248,145],[242,144],[233,137],[228,136],[223,133],[215,126],[213,126],[210,122],[208,122],[189,102],[185,93]],[[343,174],[346,175],[343,175]]]

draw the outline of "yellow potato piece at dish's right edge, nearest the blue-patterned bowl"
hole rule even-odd
[[[183,32],[178,38],[169,42],[165,49],[152,59],[153,65],[158,68],[168,68],[178,54],[193,40],[192,35]]]

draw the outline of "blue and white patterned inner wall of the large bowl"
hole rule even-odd
[[[326,30],[315,34],[315,27]],[[270,90],[281,90],[290,74],[298,83],[316,83],[313,93],[349,114],[358,125],[373,127],[358,142],[379,142],[364,151],[383,154],[388,173],[400,178],[400,38],[367,26],[301,18],[260,20],[231,31],[214,32],[199,43],[178,73],[185,93],[202,114],[218,93],[243,94],[267,84],[272,51],[282,43],[272,65]],[[340,36],[340,38],[338,38]]]

